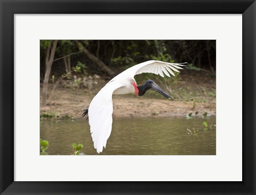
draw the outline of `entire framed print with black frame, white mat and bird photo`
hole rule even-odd
[[[255,1],[1,1],[1,194],[255,194],[255,15]],[[185,50],[192,45],[203,48],[203,52],[197,51],[197,55],[205,55],[203,65],[193,66],[200,62],[191,58],[185,69],[179,69],[183,62],[174,62],[171,57],[175,58],[180,48]],[[126,52],[120,52],[122,49]],[[51,58],[53,50],[57,51],[55,58]],[[76,55],[73,67],[68,57],[71,55]],[[181,53],[177,55],[179,60],[185,59]],[[84,56],[95,66],[91,69],[85,66]],[[65,74],[60,71],[64,68],[57,65],[52,69],[54,74],[46,74],[47,67],[51,71],[49,64],[54,60],[65,64]],[[102,63],[106,61],[111,64],[109,69]],[[178,79],[185,78],[182,71],[189,69],[208,74],[204,69],[207,64],[215,77],[211,77],[212,80],[206,77],[204,83],[199,80],[205,75],[197,79],[189,77],[190,82],[184,82],[188,78],[172,80],[186,83],[182,87],[189,91],[193,83],[200,83],[195,94],[202,94],[203,98],[187,101],[186,93],[181,95],[182,89],[174,86],[170,90],[168,81],[157,79],[162,74],[160,69],[154,81],[151,75],[135,77],[137,83],[130,83],[131,89],[121,89],[115,79],[111,83],[114,77],[111,70],[125,72],[131,66],[125,66],[127,63],[135,65],[144,61],[157,67],[162,64],[161,70],[167,76],[179,69]],[[167,68],[166,61],[169,61]],[[81,77],[80,71],[83,75],[90,72],[90,77]],[[150,71],[140,67],[135,74]],[[107,74],[111,78],[104,78]],[[51,94],[44,94],[45,83],[52,84]],[[98,87],[97,92],[105,84],[115,83],[117,88],[113,93],[116,94],[130,90],[128,92],[142,96],[147,95],[150,88],[152,96],[155,90],[163,98],[170,95],[175,96],[174,100],[181,98],[180,95],[184,98],[179,106],[178,101],[167,104],[167,99],[154,101],[138,99],[135,95],[125,96],[127,101],[116,100],[113,136],[106,135],[107,139],[102,141],[102,133],[97,132],[97,127],[95,130],[90,119],[93,100],[83,97],[84,91],[89,91],[88,96],[98,96],[91,90],[90,83],[91,87]],[[211,90],[207,83],[212,83]],[[107,94],[105,92],[100,100]],[[215,104],[207,104],[206,97]],[[79,108],[74,111],[71,103]],[[98,104],[100,101],[94,105]],[[154,109],[162,106],[162,112],[147,110],[150,104],[156,105]],[[89,112],[90,126],[86,118],[73,123],[77,120],[73,113],[81,117],[82,106],[84,115]],[[132,112],[125,113],[129,106]],[[196,106],[201,109],[197,111]],[[163,125],[150,130],[151,126],[169,124],[170,121],[164,121],[161,116],[167,115],[171,107],[175,108],[176,115],[184,117],[176,131]],[[178,107],[186,112],[182,113]],[[104,120],[108,114],[101,106],[95,110],[100,110],[94,114],[100,118],[97,125],[107,123]],[[213,119],[206,120],[209,113]],[[118,121],[117,115],[129,118]],[[141,115],[148,120],[134,119]],[[193,117],[199,115],[201,129],[196,127],[199,123],[193,121]],[[65,119],[66,122],[61,121]],[[108,121],[112,122],[112,118]],[[154,121],[158,121],[157,124]],[[194,126],[187,127],[187,121]],[[175,126],[177,120],[171,122]],[[115,125],[123,131],[117,134]],[[87,128],[86,131],[78,132],[81,126]],[[142,134],[145,129],[148,131]],[[74,137],[75,130],[79,139]],[[180,133],[177,135],[177,132]],[[139,133],[143,139],[134,140],[131,133]],[[86,136],[88,139],[83,142]],[[173,145],[169,142],[171,136]],[[39,138],[42,138],[40,145]],[[179,140],[183,140],[182,146]],[[199,144],[201,147],[196,148]]]

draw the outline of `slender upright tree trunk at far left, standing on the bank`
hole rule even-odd
[[[54,60],[54,54],[57,47],[58,40],[53,41],[52,48],[51,46],[47,47],[46,59],[45,59],[45,74],[43,82],[43,99],[42,104],[46,106],[47,94],[48,94],[48,82],[51,74],[52,63]]]

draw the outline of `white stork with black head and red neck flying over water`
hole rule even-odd
[[[173,75],[179,72],[177,69],[182,69],[180,66],[185,66],[186,63],[167,63],[162,61],[150,60],[130,67],[129,69],[118,74],[111,79],[92,99],[88,109],[84,109],[83,116],[88,114],[92,140],[94,148],[100,153],[103,147],[106,148],[107,140],[112,129],[112,113],[113,113],[113,94],[135,94],[142,96],[148,89],[153,89],[159,94],[167,98],[171,98],[152,80],[147,80],[145,84],[137,86],[134,75],[141,73],[154,73],[164,77]]]

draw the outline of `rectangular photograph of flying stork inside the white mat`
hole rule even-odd
[[[40,155],[216,155],[216,40],[40,40]]]

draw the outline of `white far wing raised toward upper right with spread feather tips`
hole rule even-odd
[[[124,72],[118,74],[115,78],[111,79],[109,82],[119,77],[124,77],[124,76],[134,77],[134,75],[147,73],[147,72],[159,74],[161,75],[161,77],[164,77],[164,74],[166,74],[167,77],[171,77],[170,74],[175,77],[174,72],[180,72],[178,69],[182,69],[182,67],[180,66],[186,66],[186,62],[185,63],[169,63],[169,62],[162,62],[157,60],[150,60],[150,61],[143,62],[130,67]]]

